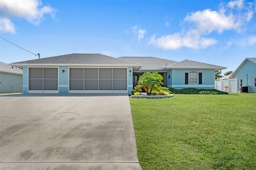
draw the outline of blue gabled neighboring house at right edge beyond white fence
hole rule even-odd
[[[256,93],[256,58],[246,58],[229,78],[238,79],[240,92]]]

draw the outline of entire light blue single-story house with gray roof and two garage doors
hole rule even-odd
[[[164,86],[214,88],[222,66],[156,57],[69,54],[12,63],[23,67],[23,93],[130,93],[140,75],[158,71]]]

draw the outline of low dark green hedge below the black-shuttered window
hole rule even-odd
[[[203,89],[203,88],[183,88],[175,89],[169,88],[171,94],[228,94],[215,89]]]

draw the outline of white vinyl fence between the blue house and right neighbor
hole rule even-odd
[[[228,88],[225,89],[224,86],[228,86]],[[238,93],[238,78],[215,80],[215,89],[222,92]]]

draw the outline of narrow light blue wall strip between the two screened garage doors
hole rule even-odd
[[[64,72],[62,72],[64,70]],[[69,68],[68,66],[59,67],[59,93],[68,93],[68,75]]]

